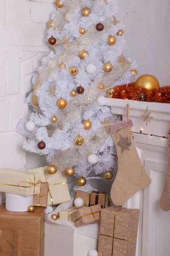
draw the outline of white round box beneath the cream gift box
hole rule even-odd
[[[6,209],[12,212],[27,212],[29,205],[33,205],[33,195],[23,196],[6,193]]]

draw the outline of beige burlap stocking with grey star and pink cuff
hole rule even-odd
[[[137,191],[151,183],[136,151],[131,126],[132,121],[127,119],[111,127],[118,156],[118,172],[111,188],[111,200],[116,206],[122,206]]]

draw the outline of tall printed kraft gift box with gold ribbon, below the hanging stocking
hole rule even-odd
[[[101,211],[99,256],[135,256],[139,209],[108,207]]]

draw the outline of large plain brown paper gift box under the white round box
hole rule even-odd
[[[11,212],[0,206],[0,256],[44,256],[44,209]]]

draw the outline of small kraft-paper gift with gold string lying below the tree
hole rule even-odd
[[[75,227],[82,227],[100,220],[101,206],[81,207],[71,213]]]

